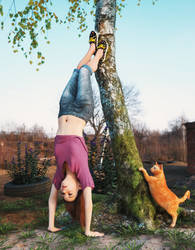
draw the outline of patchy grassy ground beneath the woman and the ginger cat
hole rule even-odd
[[[183,194],[182,188],[177,192]],[[65,211],[61,197],[56,226],[66,229],[49,233],[48,196],[0,201],[0,249],[195,249],[195,213],[180,209],[176,228],[169,229],[171,218],[160,210],[157,216],[160,227],[149,231],[133,219],[117,214],[112,197],[100,194],[93,194],[92,229],[104,232],[105,237],[86,237]],[[194,191],[183,207],[195,209]]]

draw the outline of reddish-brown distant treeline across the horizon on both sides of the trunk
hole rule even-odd
[[[167,131],[151,131],[144,126],[134,126],[134,136],[136,144],[143,161],[186,161],[185,152],[185,131],[183,129],[183,120],[176,120]],[[89,148],[89,154],[93,150],[94,143],[97,149],[93,157],[101,158],[104,155],[101,149],[100,141],[105,137],[103,134],[86,135],[86,142]],[[5,132],[0,131],[0,168],[4,168],[4,162],[10,162],[13,157],[17,156],[17,143],[21,142],[23,154],[25,145],[28,148],[34,148],[35,143],[39,143],[41,157],[47,155],[54,156],[54,138],[49,138],[44,132],[44,129],[35,126],[33,130],[18,128],[16,131]],[[103,144],[105,147],[111,147],[109,138]],[[111,152],[111,149],[109,150]]]

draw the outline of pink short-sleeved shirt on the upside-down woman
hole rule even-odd
[[[94,188],[93,178],[88,166],[88,149],[85,140],[76,135],[57,135],[55,137],[55,157],[57,170],[53,178],[56,189],[60,189],[64,180],[63,165],[67,162],[72,173],[75,173],[81,184],[82,190],[85,187]]]

